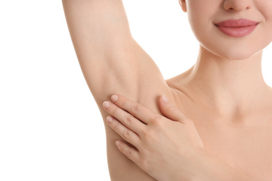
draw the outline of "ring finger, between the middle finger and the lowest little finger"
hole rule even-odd
[[[136,148],[139,147],[139,143],[141,140],[139,139],[139,136],[135,134],[135,132],[122,125],[112,116],[107,117],[107,124],[112,127],[112,129],[114,129],[114,131],[119,134],[124,140],[128,141],[128,143],[134,145]]]

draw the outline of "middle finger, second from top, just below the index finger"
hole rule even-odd
[[[115,104],[112,104],[112,102],[103,102],[103,107],[105,111],[119,120],[124,126],[128,127],[128,129],[137,133],[139,136],[142,135],[141,133],[144,129],[144,123],[137,120],[137,118],[124,111],[120,107],[117,107]]]

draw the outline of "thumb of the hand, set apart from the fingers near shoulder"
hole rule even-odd
[[[169,102],[169,99],[166,97],[166,95],[160,97],[159,105],[160,111],[162,111],[163,116],[166,118],[179,121],[181,123],[184,123],[187,119],[186,116],[181,113],[181,111],[179,111],[179,109],[177,109],[174,104],[172,104],[172,102]]]

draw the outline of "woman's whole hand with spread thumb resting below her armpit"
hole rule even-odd
[[[159,104],[167,118],[120,95],[113,95],[103,107],[112,115],[107,117],[109,126],[136,148],[116,141],[124,155],[156,180],[188,180],[197,172],[202,139],[192,120],[165,95]]]

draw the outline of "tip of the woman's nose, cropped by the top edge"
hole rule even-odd
[[[241,12],[243,10],[249,10],[251,8],[251,0],[226,0],[224,2],[225,10],[233,10]]]

